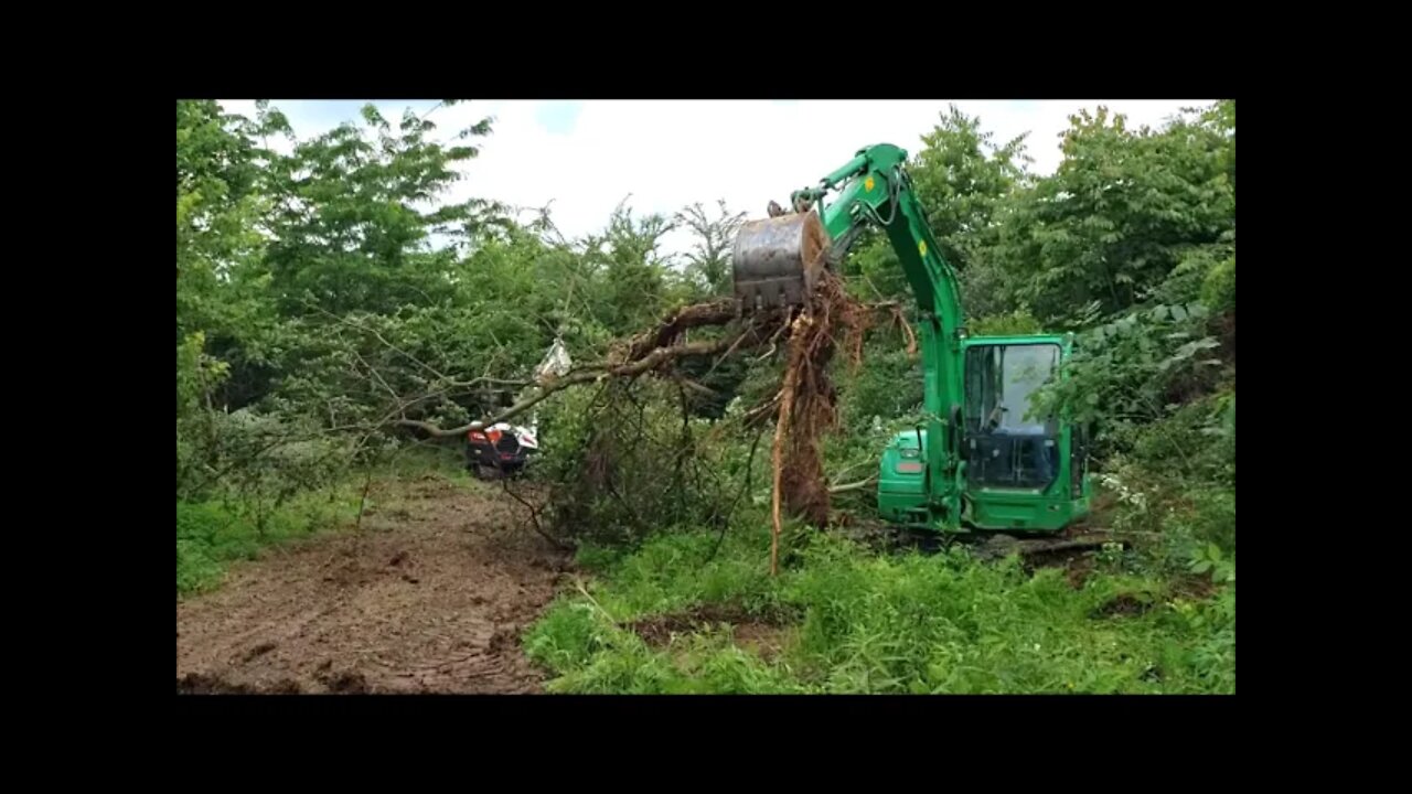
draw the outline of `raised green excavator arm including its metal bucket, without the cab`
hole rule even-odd
[[[860,150],[816,186],[791,195],[794,212],[746,223],[736,239],[736,295],[746,311],[801,305],[826,267],[837,267],[867,227],[882,230],[897,251],[919,311],[925,367],[926,438],[923,485],[931,513],[960,523],[962,336],[963,316],[955,270],[926,223],[907,153],[891,144]],[[836,195],[829,201],[832,192]],[[918,442],[922,442],[918,432]]]

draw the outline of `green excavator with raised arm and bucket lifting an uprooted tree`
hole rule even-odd
[[[830,191],[833,201],[825,203]],[[1086,434],[1035,415],[1031,396],[1062,377],[1073,339],[969,336],[956,273],[942,257],[907,172],[907,151],[878,144],[818,186],[795,191],[791,211],[741,226],[731,267],[744,312],[798,307],[823,268],[836,268],[858,235],[881,229],[918,304],[923,424],[882,451],[877,504],[907,527],[1058,533],[1089,511]]]

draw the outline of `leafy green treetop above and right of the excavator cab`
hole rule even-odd
[[[1100,107],[1070,117],[1062,148],[1058,171],[1017,196],[995,249],[1011,298],[1042,319],[1141,304],[1185,260],[1233,242],[1234,161],[1216,123],[1132,130]]]

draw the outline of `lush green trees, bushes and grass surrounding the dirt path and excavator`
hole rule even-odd
[[[744,213],[710,196],[674,216],[624,202],[602,232],[565,240],[548,211],[446,201],[494,129],[435,119],[367,106],[292,140],[268,103],[249,119],[178,102],[179,595],[268,543],[346,524],[357,478],[415,441],[390,418],[491,414],[555,338],[600,360],[675,307],[729,292]],[[1028,170],[1025,137],[995,141],[956,107],[911,133],[970,331],[1077,335],[1070,377],[1046,398],[1093,431],[1099,519],[1155,540],[1075,589],[1015,562],[798,534],[788,572],[768,579],[768,435],[753,451],[758,429],[737,420],[774,389],[777,359],[682,365],[710,394],[671,380],[568,390],[535,415],[539,476],[558,483],[558,530],[583,541],[586,564],[609,562],[592,596],[565,596],[527,639],[555,688],[1234,691],[1234,102],[1158,129],[1077,110],[1048,175]],[[270,146],[280,138],[292,148]],[[658,243],[678,226],[698,243],[674,261]],[[866,301],[909,304],[877,235],[843,273]],[[885,431],[915,421],[921,367],[905,346],[877,322],[861,366],[836,365],[837,482],[871,473]],[[866,516],[870,494],[839,507]],[[1120,596],[1141,615],[1094,617]],[[714,634],[655,648],[621,627],[723,602],[794,616],[788,650],[765,661]]]

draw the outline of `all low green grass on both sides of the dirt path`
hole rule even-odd
[[[426,473],[479,485],[431,454],[404,456],[374,482]],[[263,521],[249,503],[178,503],[178,596],[219,586],[230,561],[347,526],[361,486],[295,497]],[[768,523],[755,511],[719,548],[714,533],[690,528],[631,551],[585,545],[578,562],[589,575],[551,605],[524,647],[555,674],[554,692],[1234,692],[1234,496],[1182,493],[1180,503],[1154,496],[1115,517],[1227,548],[1214,585],[1193,588],[1171,543],[1151,554],[1106,551],[1075,586],[1062,569],[1031,574],[1014,558],[880,555],[816,533],[794,535],[788,564],[771,578]],[[712,608],[738,616],[734,626],[676,626],[665,643],[634,626]],[[747,623],[774,632],[775,653],[741,640]]]

